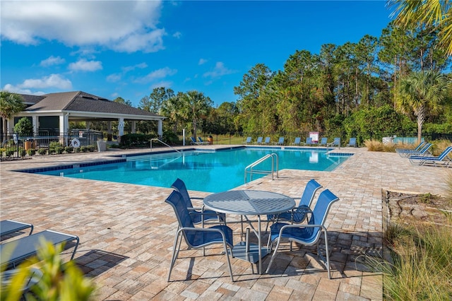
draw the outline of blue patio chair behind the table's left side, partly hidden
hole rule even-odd
[[[184,202],[186,203],[186,208],[188,208],[191,221],[194,224],[201,223],[204,225],[204,222],[208,220],[218,220],[218,223],[226,223],[225,213],[218,213],[213,210],[204,210],[204,206],[200,208],[194,207],[193,203],[191,203],[191,199],[202,200],[203,198],[190,197],[189,191],[186,189],[186,185],[182,179],[177,178],[171,187],[182,194],[182,199],[184,199]]]

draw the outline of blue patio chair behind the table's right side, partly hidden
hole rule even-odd
[[[319,184],[315,179],[310,179],[307,182],[306,187],[304,187],[304,191],[302,194],[302,198],[299,200],[297,208],[292,209],[291,211],[280,213],[279,215],[269,215],[267,216],[267,228],[270,221],[277,222],[280,220],[290,221],[290,223],[302,223],[304,219],[307,217],[307,213],[311,212],[311,203],[314,200],[314,195],[316,191],[321,189],[322,185]]]

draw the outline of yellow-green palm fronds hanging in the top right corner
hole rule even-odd
[[[403,28],[427,25],[438,29],[441,45],[448,56],[452,56],[451,1],[389,0],[388,6],[396,6],[391,16],[396,16],[396,24]]]

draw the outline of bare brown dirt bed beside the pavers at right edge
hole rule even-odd
[[[444,224],[452,216],[452,201],[432,194],[386,191],[389,220]]]

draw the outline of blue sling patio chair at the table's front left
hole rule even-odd
[[[210,244],[222,244],[227,259],[227,266],[229,266],[231,281],[234,281],[229,252],[227,250],[229,247],[231,255],[234,256],[232,254],[232,229],[227,227],[227,225],[214,225],[210,228],[195,228],[191,221],[191,215],[186,208],[184,198],[178,191],[172,191],[165,200],[165,203],[169,203],[169,205],[172,206],[177,217],[177,222],[179,223],[179,228],[172,246],[172,258],[167,281],[171,278],[171,271],[181,248],[182,237],[189,248],[194,249],[201,249]]]

